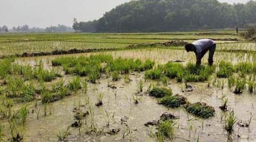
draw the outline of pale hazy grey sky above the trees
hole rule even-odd
[[[73,18],[89,21],[101,18],[106,11],[130,0],[0,0],[0,26],[9,28],[27,24],[48,27],[64,24],[72,26]],[[249,0],[219,0],[240,2]]]

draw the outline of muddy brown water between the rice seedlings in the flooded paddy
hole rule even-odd
[[[95,54],[95,53],[94,53]],[[115,57],[139,57],[141,59],[152,59],[157,62],[166,62],[168,60],[184,60],[187,55],[183,51],[171,51],[168,49],[144,49],[136,51],[115,51],[106,52],[106,54],[114,55]],[[80,55],[90,55],[80,54]],[[80,56],[68,55],[68,56]],[[190,56],[190,55],[189,55]],[[18,59],[22,64],[35,65],[37,61],[42,60],[45,66],[51,68],[48,63],[58,56],[46,56],[36,58]],[[230,57],[234,60],[235,57]],[[236,59],[237,60],[237,59]],[[254,59],[253,59],[254,60]],[[123,78],[123,77],[122,77]],[[249,128],[240,128],[235,125],[233,135],[228,135],[224,130],[224,116],[219,106],[221,106],[221,97],[224,95],[228,98],[228,107],[234,109],[237,119],[249,120],[250,112],[256,114],[254,106],[256,105],[256,96],[249,93],[235,95],[229,89],[220,90],[216,87],[208,87],[207,83],[190,83],[195,87],[195,90],[189,93],[182,93],[182,84],[170,81],[170,87],[174,94],[184,95],[189,102],[206,102],[213,106],[216,110],[216,115],[213,118],[203,120],[196,118],[184,110],[184,108],[167,108],[158,105],[155,98],[149,97],[147,94],[139,96],[138,105],[134,104],[133,95],[137,93],[137,82],[143,79],[143,73],[130,74],[130,83],[125,83],[124,80],[113,82],[111,78],[103,78],[100,83],[89,83],[88,92],[85,94],[80,91],[76,95],[66,97],[60,101],[51,103],[47,106],[47,116],[44,116],[43,105],[38,102],[40,108],[39,119],[36,119],[36,114],[30,113],[27,124],[24,129],[23,141],[57,141],[57,133],[64,131],[68,126],[75,122],[75,112],[73,109],[79,105],[85,104],[85,98],[89,97],[90,105],[81,107],[82,111],[89,111],[89,106],[94,112],[94,117],[89,115],[86,117],[86,125],[81,128],[79,135],[78,128],[71,128],[71,135],[68,141],[157,141],[155,136],[155,127],[145,127],[144,123],[150,120],[158,120],[159,116],[164,112],[171,112],[179,116],[175,128],[174,141],[195,141],[199,137],[199,141],[256,141],[256,117],[251,121]],[[110,89],[108,84],[117,86],[116,90]],[[156,83],[156,82],[155,82]],[[147,90],[150,82],[144,82],[144,91]],[[162,86],[162,85],[160,85]],[[95,106],[97,102],[97,94],[103,93],[103,103],[101,107]],[[114,95],[116,94],[116,95]],[[19,104],[18,106],[20,106]],[[31,110],[34,108],[34,102],[30,103]],[[50,113],[51,110],[51,114]],[[110,125],[106,127],[109,113]],[[223,114],[225,115],[225,114]],[[121,124],[121,119],[127,119],[127,126]],[[222,118],[222,120],[221,120]],[[97,127],[98,133],[86,133],[90,130],[90,125],[94,120],[94,125]],[[5,124],[6,139],[9,137],[8,124],[6,120],[1,123]],[[111,129],[119,129],[117,135],[109,135]],[[102,131],[102,133],[99,133]],[[238,137],[238,135],[240,137]],[[168,140],[167,140],[168,141]]]

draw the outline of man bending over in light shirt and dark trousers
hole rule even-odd
[[[208,64],[209,66],[212,66],[215,48],[216,48],[216,43],[214,43],[214,41],[210,39],[200,39],[200,40],[196,40],[192,44],[185,45],[185,49],[187,52],[195,52],[197,66],[201,65],[201,59],[204,57],[207,51],[209,51]]]

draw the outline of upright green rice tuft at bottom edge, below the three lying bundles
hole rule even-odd
[[[163,137],[167,137],[170,140],[174,139],[175,125],[177,122],[172,120],[160,121],[158,125],[158,141],[163,141]]]

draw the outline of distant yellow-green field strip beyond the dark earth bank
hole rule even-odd
[[[124,48],[131,44],[166,42],[170,40],[192,42],[202,38],[214,39],[217,43],[237,43],[242,41],[241,37],[237,36],[234,31],[134,34],[0,34],[0,56],[22,54],[24,52],[51,52],[73,48]]]

